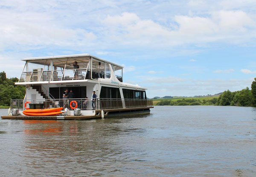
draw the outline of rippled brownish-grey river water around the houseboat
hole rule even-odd
[[[0,176],[255,177],[256,108],[156,106],[130,118],[0,119]]]

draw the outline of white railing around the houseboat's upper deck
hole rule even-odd
[[[97,79],[107,77],[107,73],[92,70],[87,68],[73,70],[52,70],[52,71],[32,71],[23,72],[19,82],[37,82],[37,81],[67,81],[67,80],[82,80],[82,79]],[[110,77],[110,76],[109,76]],[[119,81],[122,81],[121,76],[116,76]]]

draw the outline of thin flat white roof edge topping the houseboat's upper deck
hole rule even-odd
[[[80,57],[92,57],[98,61],[106,62],[115,65],[116,67],[124,68],[118,64],[114,64],[110,61],[103,60],[102,58],[98,58],[96,56],[90,55],[88,53],[84,54],[76,54],[76,55],[58,55],[58,56],[48,56],[48,57],[33,57],[33,58],[23,58],[22,61],[36,61],[36,60],[47,60],[47,59],[61,59],[61,58],[80,58]]]

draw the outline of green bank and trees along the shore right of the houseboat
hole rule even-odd
[[[154,105],[186,106],[186,105],[218,105],[218,106],[253,106],[256,107],[256,78],[251,84],[251,90],[231,92],[224,91],[220,96],[180,99],[154,99]]]

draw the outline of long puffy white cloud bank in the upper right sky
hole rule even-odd
[[[208,42],[248,43],[255,36],[255,21],[239,11],[214,11],[207,17],[176,15],[170,27],[134,13],[106,17],[102,22],[111,40],[125,45],[170,47]]]

